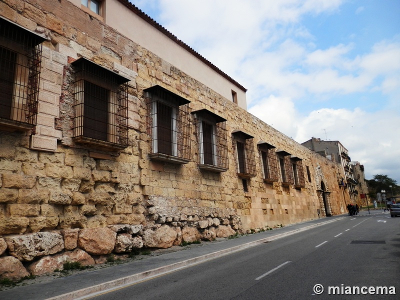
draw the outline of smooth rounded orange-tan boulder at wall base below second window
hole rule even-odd
[[[89,254],[109,254],[115,245],[116,233],[109,228],[86,228],[79,232],[78,246]]]

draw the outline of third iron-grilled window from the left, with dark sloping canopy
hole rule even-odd
[[[155,85],[144,90],[149,99],[148,133],[154,160],[183,164],[190,161],[190,101]]]

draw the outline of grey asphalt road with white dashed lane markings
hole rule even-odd
[[[93,299],[398,299],[399,226],[387,212],[349,216]],[[393,286],[395,294],[338,294],[347,286]]]

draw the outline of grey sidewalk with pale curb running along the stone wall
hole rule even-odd
[[[355,217],[383,213],[383,210],[360,211]],[[141,260],[116,264],[95,270],[83,270],[65,277],[45,282],[16,286],[0,291],[0,299],[7,300],[72,300],[106,289],[120,287],[152,276],[210,260],[257,244],[272,241],[313,227],[348,217],[347,214],[319,218],[288,225],[274,230],[240,236],[234,239],[213,241],[204,245],[177,250]],[[351,216],[354,217],[354,216]]]

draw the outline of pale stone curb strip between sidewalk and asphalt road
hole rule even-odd
[[[227,255],[236,251],[240,251],[246,248],[250,248],[253,247],[255,245],[264,243],[264,242],[268,242],[268,241],[273,241],[276,240],[278,238],[282,238],[288,235],[292,235],[301,231],[305,231],[320,225],[324,225],[324,224],[328,224],[331,222],[334,222],[336,220],[342,219],[346,216],[342,216],[342,217],[338,217],[338,218],[334,218],[331,220],[327,220],[324,222],[320,222],[320,223],[316,223],[316,224],[312,224],[312,225],[308,225],[302,228],[298,228],[298,229],[294,229],[294,230],[290,230],[287,232],[283,232],[283,233],[278,233],[272,236],[268,236],[268,237],[264,237],[264,238],[260,238],[258,240],[254,240],[254,241],[250,241],[247,243],[243,243],[237,246],[233,246],[227,249],[223,249],[223,250],[219,250],[219,251],[215,251],[212,253],[208,253],[208,254],[204,254],[204,255],[200,255],[200,256],[196,256],[190,259],[186,259],[183,261],[179,261],[179,262],[175,262],[175,263],[171,263],[168,265],[164,265],[158,268],[154,268],[151,270],[147,270],[147,271],[143,271],[140,273],[136,273],[136,274],[132,274],[129,276],[125,276],[122,278],[118,278],[118,279],[114,279],[114,280],[110,280],[107,282],[103,282],[103,283],[99,283],[93,286],[89,286],[89,287],[85,287],[82,289],[78,289],[75,291],[71,291],[71,292],[67,292],[58,296],[54,296],[51,298],[47,298],[46,300],[80,300],[80,299],[84,299],[85,297],[87,297],[88,295],[90,296],[95,296],[97,294],[112,290],[112,289],[117,289],[117,288],[121,288],[123,286],[126,285],[130,285],[130,284],[134,284],[146,279],[150,279],[152,277],[155,276],[159,276],[159,275],[163,275],[172,271],[176,271],[178,269],[182,269],[185,267],[189,267],[191,265],[200,263],[200,262],[204,262],[207,260],[211,260],[214,259],[216,257],[220,257],[223,255]]]

